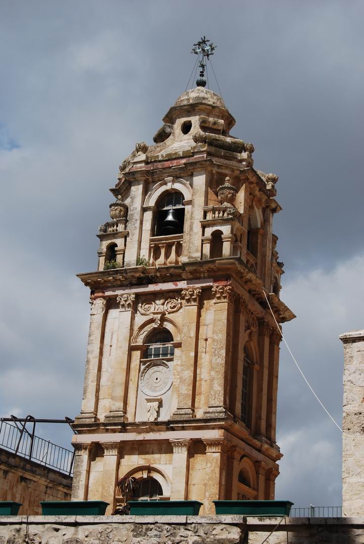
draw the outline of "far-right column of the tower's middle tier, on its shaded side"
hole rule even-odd
[[[267,428],[266,434],[269,440],[275,442],[275,423],[277,420],[277,393],[278,393],[278,369],[279,369],[279,344],[281,335],[277,329],[272,329],[269,337],[269,372],[267,395]]]

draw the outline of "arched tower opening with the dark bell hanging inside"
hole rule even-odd
[[[185,221],[184,196],[179,191],[166,193],[157,203],[155,236],[183,233]]]

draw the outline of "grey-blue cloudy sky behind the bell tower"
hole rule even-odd
[[[338,335],[364,326],[363,17],[355,0],[0,2],[1,415],[79,413],[89,293],[75,274],[95,270],[118,165],[152,142],[205,34],[233,134],[279,175],[287,342],[341,423]],[[341,504],[341,433],[283,346],[278,443],[277,498]]]

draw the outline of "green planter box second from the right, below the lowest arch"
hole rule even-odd
[[[198,516],[198,500],[129,500],[130,516]]]

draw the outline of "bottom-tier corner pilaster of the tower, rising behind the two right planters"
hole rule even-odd
[[[213,500],[224,500],[227,479],[227,442],[223,438],[205,438],[206,475],[204,514],[215,514]]]

